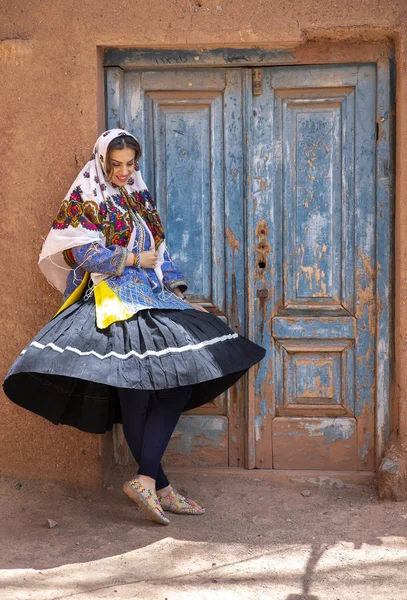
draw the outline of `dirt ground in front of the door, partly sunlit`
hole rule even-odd
[[[162,526],[117,484],[2,478],[1,600],[407,600],[407,503],[368,486],[172,480],[204,516]]]

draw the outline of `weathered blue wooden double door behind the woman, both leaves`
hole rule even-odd
[[[106,90],[190,299],[267,350],[167,463],[373,470],[376,66],[110,67]]]

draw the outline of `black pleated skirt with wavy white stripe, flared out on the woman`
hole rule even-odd
[[[218,317],[192,308],[146,309],[98,329],[93,298],[82,299],[26,346],[3,387],[10,400],[55,424],[104,433],[121,423],[117,388],[192,385],[190,410],[228,389],[264,354]]]

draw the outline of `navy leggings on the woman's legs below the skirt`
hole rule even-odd
[[[156,480],[156,489],[169,485],[161,466],[171,435],[182,409],[187,404],[190,385],[151,392],[118,388],[122,409],[123,432],[139,466],[139,475]]]

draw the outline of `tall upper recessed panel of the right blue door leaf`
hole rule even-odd
[[[354,229],[355,92],[275,94],[283,123],[284,308],[343,314],[354,297],[354,238],[346,232]]]

